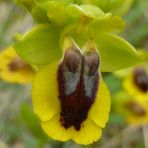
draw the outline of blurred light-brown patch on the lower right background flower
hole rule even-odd
[[[128,102],[125,104],[125,107],[131,111],[135,116],[141,117],[146,115],[146,111],[139,104],[135,102]]]

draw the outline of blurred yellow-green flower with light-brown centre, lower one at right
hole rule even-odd
[[[148,124],[148,99],[132,97],[120,92],[114,99],[114,108],[122,115],[128,124]]]

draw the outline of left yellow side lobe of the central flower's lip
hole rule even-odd
[[[50,120],[57,112],[60,112],[57,85],[58,63],[53,62],[42,69],[33,82],[34,111],[42,121]]]

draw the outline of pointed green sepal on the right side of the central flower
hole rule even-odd
[[[102,72],[113,72],[142,62],[136,49],[119,36],[104,34],[97,38],[96,43]]]

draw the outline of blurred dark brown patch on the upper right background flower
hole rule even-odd
[[[143,68],[135,69],[134,83],[144,93],[148,91],[148,74]]]

